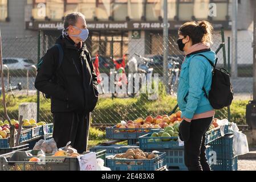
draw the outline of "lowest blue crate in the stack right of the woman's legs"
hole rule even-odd
[[[232,159],[217,159],[216,164],[212,164],[213,171],[237,171],[238,170],[237,156]]]

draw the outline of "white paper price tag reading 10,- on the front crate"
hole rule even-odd
[[[80,171],[96,171],[96,153],[90,152],[79,158]]]

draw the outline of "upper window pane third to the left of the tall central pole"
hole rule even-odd
[[[115,0],[113,4],[114,20],[125,20],[128,16],[128,0]]]

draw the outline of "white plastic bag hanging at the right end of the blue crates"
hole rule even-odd
[[[234,131],[233,150],[234,156],[247,154],[249,152],[247,137],[240,131]]]

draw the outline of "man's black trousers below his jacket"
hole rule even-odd
[[[87,143],[90,128],[90,113],[54,113],[54,133],[52,137],[57,147],[71,146],[78,150],[79,154],[87,151]]]

